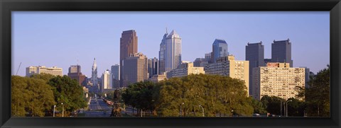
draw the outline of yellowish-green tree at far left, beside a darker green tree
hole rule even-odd
[[[43,117],[55,105],[53,91],[46,81],[39,78],[11,77],[12,115]]]

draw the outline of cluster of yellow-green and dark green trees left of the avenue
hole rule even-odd
[[[63,103],[63,105],[62,105]],[[68,76],[34,74],[11,76],[11,114],[15,117],[52,115],[53,107],[65,116],[86,107],[82,87]]]

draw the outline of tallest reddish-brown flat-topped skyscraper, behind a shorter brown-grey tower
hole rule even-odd
[[[121,34],[121,39],[120,39],[120,54],[119,54],[119,65],[121,66],[120,68],[120,78],[122,79],[124,73],[126,71],[124,71],[124,65],[122,64],[123,59],[125,59],[126,57],[129,57],[130,54],[135,54],[137,53],[137,49],[138,49],[138,45],[137,45],[137,35],[135,30],[126,30],[123,31],[123,33]],[[121,82],[123,82],[121,80]],[[121,83],[123,84],[123,83]]]

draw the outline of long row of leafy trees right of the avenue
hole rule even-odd
[[[288,115],[329,117],[330,66],[311,77],[309,85],[310,88],[301,89],[299,95],[305,100],[288,99],[291,100],[288,102]],[[244,81],[236,78],[199,74],[170,78],[159,83],[134,83],[123,91],[122,99],[131,107],[161,117],[202,116],[202,108],[207,117],[249,116],[268,112],[285,115],[284,107],[288,100],[267,95],[255,100],[248,98],[245,90]]]

